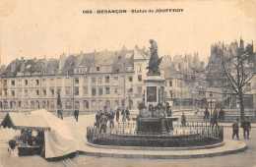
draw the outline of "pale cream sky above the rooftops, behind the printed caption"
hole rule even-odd
[[[84,53],[150,47],[159,55],[198,51],[207,61],[211,44],[256,39],[256,4],[234,1],[0,0],[1,64]],[[182,13],[83,14],[83,10],[183,9]],[[254,44],[254,50],[255,50]]]

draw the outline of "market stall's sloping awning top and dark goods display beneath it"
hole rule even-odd
[[[50,131],[50,127],[43,117],[32,114],[7,113],[1,126],[21,130],[21,136],[9,141],[10,146],[17,145],[20,156],[44,155],[44,132]]]

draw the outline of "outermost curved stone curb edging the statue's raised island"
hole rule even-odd
[[[242,142],[239,147],[235,147],[234,149],[229,150],[220,150],[217,152],[214,152],[215,148],[212,148],[211,152],[209,153],[193,153],[191,154],[189,151],[186,151],[187,154],[161,154],[158,151],[152,150],[149,153],[138,153],[136,150],[134,150],[134,153],[111,153],[111,152],[100,152],[100,148],[96,148],[98,150],[94,151],[86,151],[86,150],[80,150],[80,154],[84,155],[91,155],[91,156],[97,156],[97,157],[114,157],[114,158],[145,158],[145,159],[190,159],[190,158],[204,158],[204,157],[213,157],[213,156],[222,156],[226,154],[233,154],[237,152],[244,151],[247,149],[247,145],[245,142]],[[217,148],[218,149],[218,148]],[[105,149],[104,149],[105,150]],[[116,149],[115,149],[116,150]],[[208,149],[210,150],[210,149]],[[182,150],[181,150],[182,151]],[[171,152],[170,152],[171,153]]]

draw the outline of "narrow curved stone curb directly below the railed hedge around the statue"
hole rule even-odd
[[[205,146],[190,146],[190,147],[149,147],[149,146],[114,146],[114,145],[98,145],[90,142],[86,142],[87,145],[101,148],[101,149],[126,149],[126,150],[164,150],[164,151],[173,151],[173,150],[195,150],[195,149],[210,149],[224,145],[224,141],[212,145]]]

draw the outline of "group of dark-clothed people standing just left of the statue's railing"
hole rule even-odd
[[[126,108],[126,110],[121,110],[120,108],[116,108],[115,111],[110,109],[108,112],[107,107],[104,106],[104,111],[99,110],[96,113],[96,123],[95,126],[96,128],[99,129],[99,133],[103,131],[103,133],[106,133],[106,128],[107,128],[107,122],[109,121],[109,126],[110,128],[114,128],[114,117],[116,118],[116,122],[119,122],[119,116],[120,112],[122,117],[122,121],[126,122],[126,119],[130,121],[130,111],[129,107]]]

